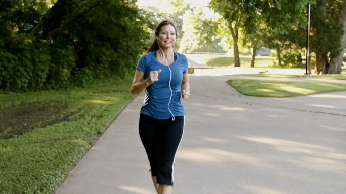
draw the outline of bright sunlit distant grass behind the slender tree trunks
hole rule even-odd
[[[208,66],[211,66],[211,55],[200,55],[204,58]],[[276,59],[274,58],[256,58],[256,68],[268,68],[273,66]],[[240,56],[241,67],[251,67],[251,57]],[[234,67],[234,57],[225,55],[213,55],[212,57],[213,67]]]

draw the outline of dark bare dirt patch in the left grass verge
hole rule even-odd
[[[45,127],[68,120],[64,103],[29,103],[0,110],[0,139],[22,135],[33,128]]]

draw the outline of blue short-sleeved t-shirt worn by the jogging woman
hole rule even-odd
[[[185,55],[179,53],[175,54],[177,59],[174,63],[169,65],[172,72],[170,81],[172,98],[169,103],[169,109],[174,116],[184,116],[185,110],[180,101],[180,91],[183,74],[188,71],[188,62]],[[140,58],[137,69],[144,73],[144,79],[148,78],[151,71],[162,70],[158,75],[158,81],[155,81],[145,89],[144,101],[141,108],[142,114],[146,114],[155,119],[168,119],[172,117],[168,110],[168,102],[171,95],[169,89],[169,68],[156,59],[155,52],[149,52]]]

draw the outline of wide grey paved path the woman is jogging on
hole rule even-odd
[[[191,76],[176,194],[345,194],[346,92],[243,96],[230,76]],[[57,194],[154,194],[130,103]]]

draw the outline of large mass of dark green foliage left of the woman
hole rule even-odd
[[[133,72],[148,46],[134,1],[2,1],[0,89],[86,85]]]

